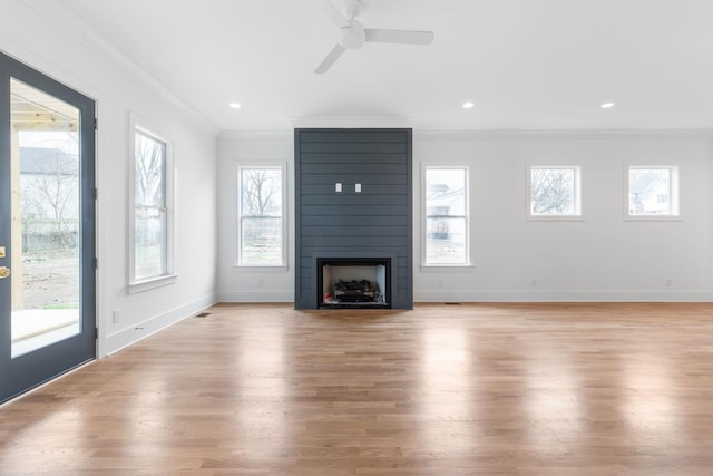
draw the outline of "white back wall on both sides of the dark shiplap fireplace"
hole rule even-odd
[[[713,299],[709,135],[416,130],[413,137],[417,302]],[[287,270],[266,273],[233,264],[236,163],[287,162],[292,186],[293,135],[223,133],[218,144],[218,298],[290,302],[293,249]],[[420,265],[420,169],[424,162],[471,167],[472,268],[427,270]],[[528,221],[528,164],[580,165],[584,220]],[[629,164],[680,166],[681,220],[624,220],[625,167]],[[294,190],[289,194],[293,204]],[[294,210],[289,242],[293,246]]]

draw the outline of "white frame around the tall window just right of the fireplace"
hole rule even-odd
[[[426,174],[429,169],[458,169],[466,172],[466,262],[465,263],[430,263],[427,261],[428,252],[428,207],[427,207],[427,198],[428,198],[428,190],[426,184]],[[471,214],[471,184],[472,179],[472,168],[465,164],[442,164],[442,163],[421,163],[421,200],[420,200],[420,222],[421,222],[421,232],[420,232],[420,255],[421,255],[421,271],[433,271],[433,272],[443,272],[443,271],[459,271],[459,270],[471,270],[473,269],[472,263],[472,214]]]

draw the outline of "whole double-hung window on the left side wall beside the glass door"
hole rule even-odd
[[[131,116],[130,290],[173,278],[170,145]],[[131,288],[134,285],[134,288]],[[150,285],[148,286],[150,288]]]

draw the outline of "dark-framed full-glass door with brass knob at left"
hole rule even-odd
[[[0,54],[0,402],[96,356],[95,104]]]

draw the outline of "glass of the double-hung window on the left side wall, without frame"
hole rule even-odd
[[[141,133],[135,142],[134,279],[166,274],[166,145]]]

